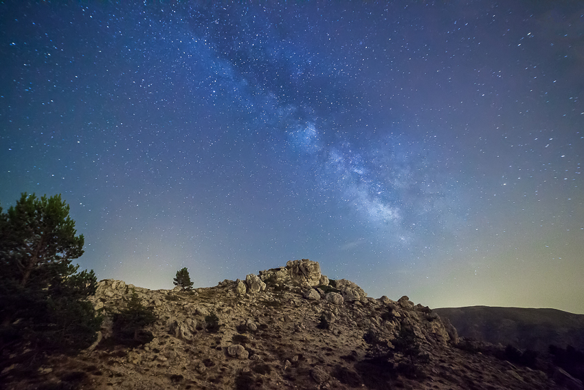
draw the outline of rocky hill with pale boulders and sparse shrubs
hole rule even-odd
[[[157,320],[120,338],[113,318],[139,300]],[[550,376],[457,347],[447,321],[407,296],[374,299],[307,259],[215,287],[98,283],[98,340],[52,356],[10,389],[563,389]],[[556,375],[563,375],[558,374]],[[568,373],[566,375],[569,376]],[[572,378],[574,379],[574,378]],[[563,381],[563,382],[562,382]],[[574,386],[578,383],[574,382]]]

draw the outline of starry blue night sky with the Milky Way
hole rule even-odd
[[[98,279],[319,261],[369,296],[584,313],[582,1],[4,1],[0,204]]]

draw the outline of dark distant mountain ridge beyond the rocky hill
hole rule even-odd
[[[547,351],[550,345],[584,349],[584,315],[556,309],[522,307],[442,307],[460,336],[519,349]]]

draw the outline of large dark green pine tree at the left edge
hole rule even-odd
[[[87,296],[96,292],[93,270],[71,264],[83,254],[69,206],[60,195],[23,193],[0,208],[0,347],[29,343],[45,351],[93,343],[102,317]]]

